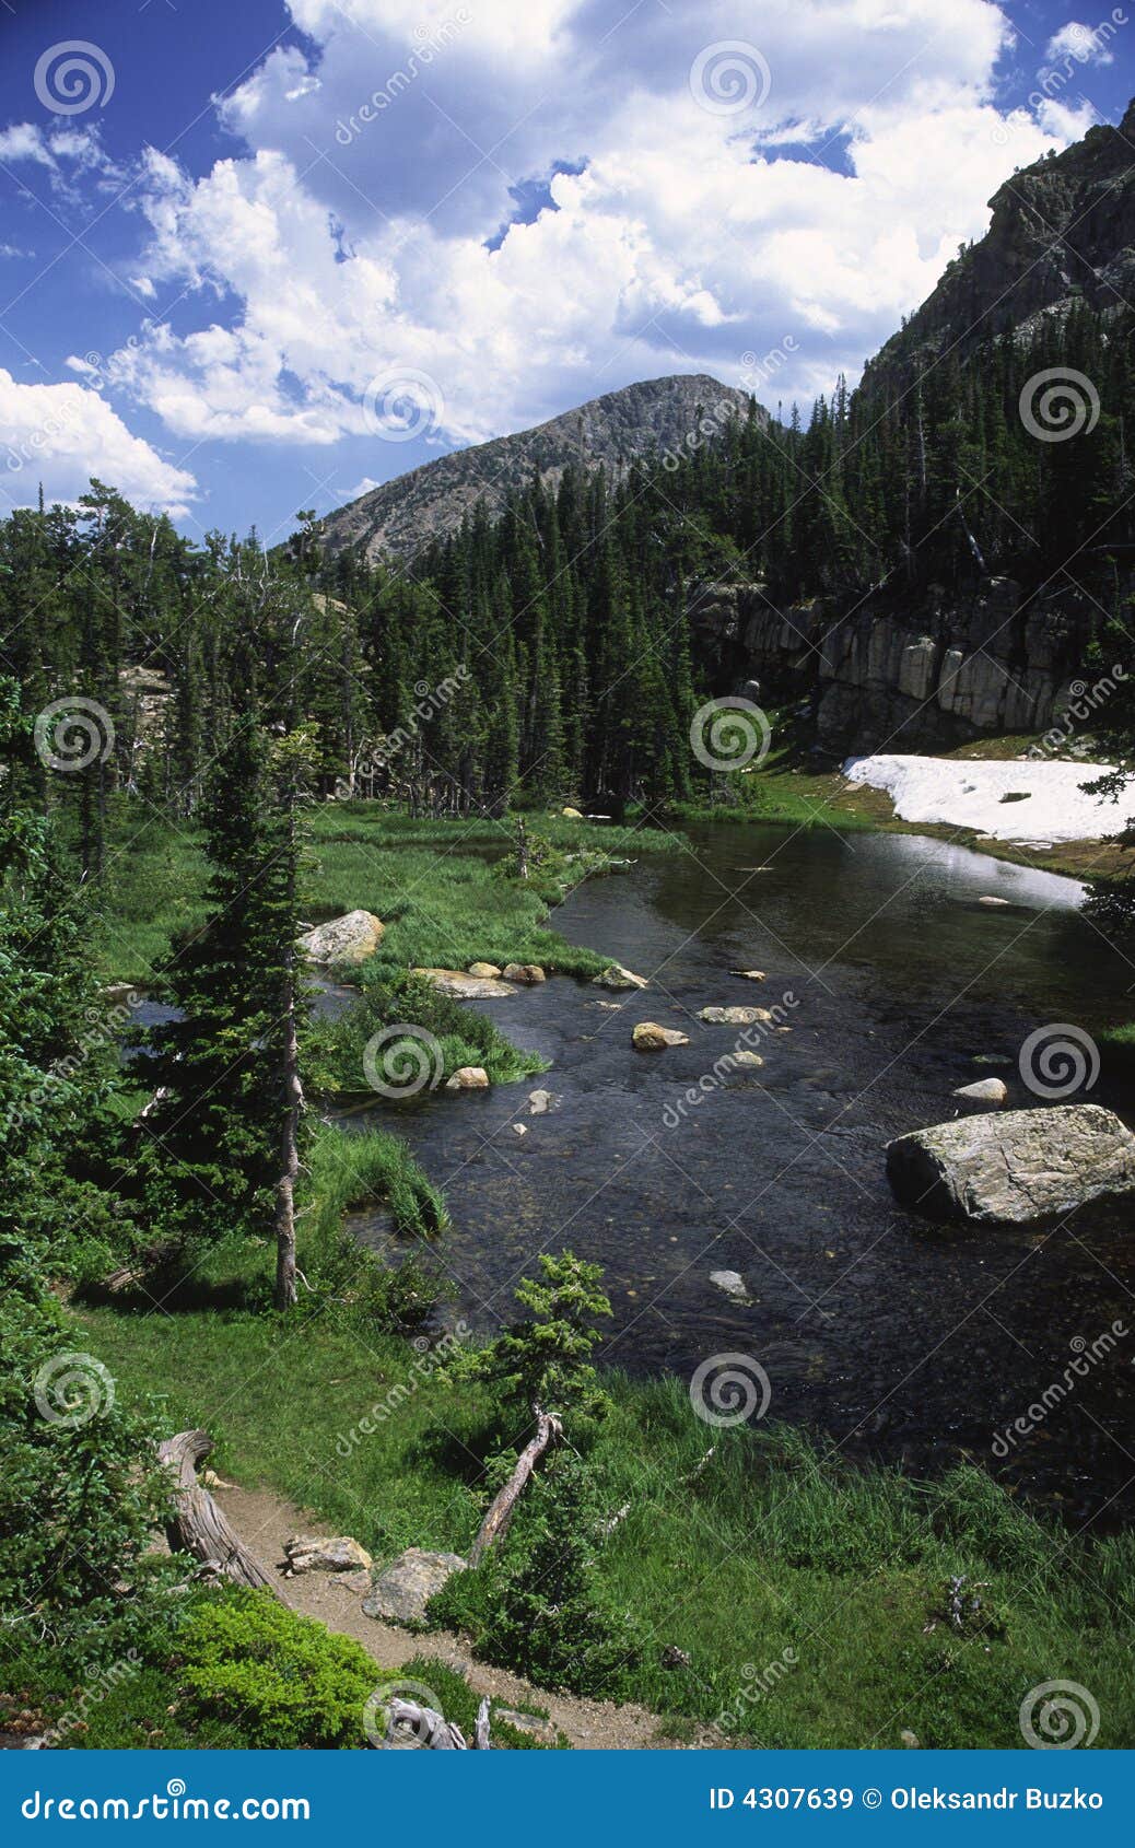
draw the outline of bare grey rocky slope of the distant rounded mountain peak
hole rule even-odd
[[[730,418],[745,418],[751,403],[745,392],[706,373],[649,379],[606,392],[549,423],[438,456],[372,488],[327,516],[325,549],[335,554],[364,545],[370,560],[412,556],[431,540],[457,530],[479,503],[490,516],[501,514],[508,495],[527,486],[536,471],[551,486],[569,462],[603,464],[617,479],[629,464],[654,451],[688,455],[702,421],[712,436]],[[767,419],[763,410],[758,416]]]

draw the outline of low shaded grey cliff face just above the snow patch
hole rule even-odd
[[[982,578],[963,599],[932,586],[909,608],[852,615],[821,597],[775,608],[762,584],[708,584],[691,623],[723,680],[812,695],[824,750],[946,750],[1048,730],[1083,680],[1091,608],[1067,588],[1024,599],[1011,578]]]

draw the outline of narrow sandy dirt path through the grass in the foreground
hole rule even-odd
[[[218,1504],[226,1510],[244,1545],[257,1554],[270,1571],[279,1571],[285,1558],[285,1539],[294,1534],[320,1534],[323,1523],[316,1515],[305,1514],[292,1502],[283,1501],[266,1489],[214,1488]],[[436,1656],[440,1661],[460,1671],[470,1687],[479,1695],[492,1695],[510,1708],[521,1711],[545,1711],[558,1730],[579,1750],[616,1750],[636,1752],[647,1746],[664,1750],[690,1750],[704,1746],[723,1746],[728,1741],[704,1728],[697,1737],[678,1746],[673,1739],[658,1737],[658,1719],[645,1708],[616,1706],[614,1700],[584,1700],[579,1695],[555,1695],[532,1687],[518,1674],[505,1669],[492,1669],[473,1661],[468,1643],[447,1630],[431,1630],[429,1635],[412,1635],[396,1624],[381,1623],[362,1615],[362,1595],[342,1584],[335,1573],[301,1573],[298,1578],[285,1578],[279,1573],[279,1589],[292,1610],[305,1617],[318,1617],[329,1630],[349,1635],[381,1669],[401,1669],[414,1656]]]

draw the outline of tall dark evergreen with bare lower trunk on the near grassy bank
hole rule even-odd
[[[153,1231],[181,1253],[275,1227],[279,1308],[296,1301],[292,1190],[303,1140],[298,863],[311,734],[240,719],[201,808],[209,918],[172,954],[179,1018],[148,1037],[139,1120]]]

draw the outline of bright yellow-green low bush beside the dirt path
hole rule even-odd
[[[181,1634],[181,1678],[244,1743],[277,1750],[362,1746],[362,1708],[379,1671],[359,1643],[266,1591],[235,1591],[196,1611]]]

